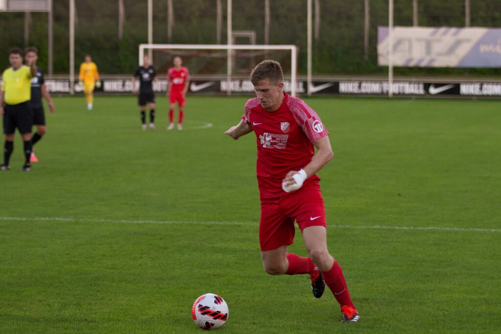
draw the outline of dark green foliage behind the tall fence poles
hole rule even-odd
[[[124,38],[118,39],[118,2],[79,0],[76,2],[75,67],[85,54],[92,54],[103,74],[130,73],[137,65],[138,45],[147,43],[147,2],[124,0]],[[315,3],[315,2],[314,2]],[[395,25],[412,25],[411,0],[395,0]],[[222,4],[221,43],[226,43],[226,2]],[[464,0],[419,0],[419,25],[425,27],[464,26]],[[54,71],[69,72],[68,1],[54,0]],[[216,1],[176,0],[175,25],[167,36],[167,0],[154,0],[153,42],[215,44]],[[271,1],[271,44],[299,46],[299,71],[307,71],[306,0]],[[315,75],[385,75],[377,65],[377,27],[388,25],[388,1],[370,0],[369,55],[364,59],[364,0],[321,0],[318,40],[314,39]],[[470,2],[471,26],[499,27],[501,2]],[[233,30],[256,32],[257,43],[265,43],[264,0],[233,0]],[[0,68],[8,66],[7,50],[24,44],[24,14],[0,13]],[[47,69],[47,14],[33,13],[29,45],[41,50],[40,65]],[[496,76],[499,69],[414,69],[396,68],[395,75]]]

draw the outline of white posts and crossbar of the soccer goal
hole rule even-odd
[[[228,52],[226,80],[228,87],[232,76],[232,57],[233,50],[289,50],[291,51],[291,95],[297,95],[298,85],[298,47],[295,45],[224,45],[224,44],[140,44],[139,45],[139,65],[143,65],[143,56],[145,50],[151,49],[178,49],[178,50],[226,50]],[[228,90],[228,95],[231,91]]]

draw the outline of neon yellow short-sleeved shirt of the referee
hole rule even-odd
[[[28,66],[14,70],[8,68],[2,74],[2,90],[5,92],[4,101],[10,105],[20,104],[31,100],[31,74]]]

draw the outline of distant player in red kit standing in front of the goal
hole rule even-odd
[[[174,107],[176,106],[176,101],[179,108],[179,121],[177,123],[177,129],[183,129],[182,123],[184,117],[184,104],[186,101],[186,92],[188,91],[189,73],[188,69],[182,65],[183,61],[181,57],[174,57],[174,67],[171,67],[167,73],[167,80],[169,81],[167,98],[170,99],[170,124],[167,127],[167,130],[174,129]]]

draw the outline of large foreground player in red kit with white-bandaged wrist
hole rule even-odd
[[[278,62],[258,64],[250,75],[257,97],[245,104],[240,123],[225,132],[235,140],[256,134],[263,266],[272,275],[310,274],[317,298],[327,284],[341,306],[342,322],[356,322],[360,316],[341,266],[327,250],[325,205],[316,175],[334,156],[329,133],[303,100],[283,92],[283,78]],[[309,257],[287,252],[294,241],[294,221]]]

